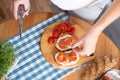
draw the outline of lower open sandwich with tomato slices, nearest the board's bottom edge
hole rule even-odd
[[[75,53],[73,50],[55,54],[55,61],[62,66],[74,65],[79,59],[79,54]]]

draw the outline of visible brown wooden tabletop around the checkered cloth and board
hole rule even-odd
[[[30,14],[25,18],[25,23],[23,25],[23,30],[26,30],[27,28],[37,24],[38,22],[41,22],[49,17],[52,17],[54,13],[36,13],[36,14]],[[70,16],[71,21],[79,24],[85,31],[88,31],[92,25],[86,23],[85,21],[78,19],[76,17]],[[19,33],[19,27],[18,23],[15,19],[11,19],[9,21],[6,21],[2,24],[0,24],[0,39],[7,39],[11,36],[14,36],[15,34]],[[114,53],[118,57],[120,57],[120,51],[119,49],[114,45],[114,43],[107,38],[104,34],[101,34],[97,43],[96,47],[96,57],[103,56],[106,53]],[[114,66],[116,69],[120,69],[120,59],[118,63]],[[77,70],[70,75],[64,77],[62,80],[79,80],[80,79],[80,73],[81,70]]]

